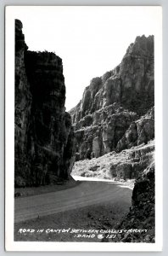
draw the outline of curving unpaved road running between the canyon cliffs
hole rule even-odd
[[[79,179],[79,178],[78,178]],[[81,178],[82,180],[82,178]],[[131,203],[132,190],[120,183],[83,181],[71,189],[14,199],[14,223],[105,201]]]

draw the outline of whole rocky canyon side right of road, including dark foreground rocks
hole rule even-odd
[[[154,242],[154,37],[137,37],[119,66],[92,79],[70,111],[77,144],[72,174],[132,187],[116,242]],[[143,230],[143,233],[141,232]]]

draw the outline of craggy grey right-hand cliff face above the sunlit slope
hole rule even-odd
[[[70,115],[76,160],[154,139],[154,37],[137,37],[119,66],[92,79]]]

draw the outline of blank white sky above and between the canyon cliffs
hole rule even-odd
[[[156,7],[17,7],[25,43],[63,60],[66,110],[76,106],[90,80],[115,66],[137,36],[158,28]]]

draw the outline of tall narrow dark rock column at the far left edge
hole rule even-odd
[[[27,155],[28,131],[31,114],[31,90],[25,73],[25,36],[22,23],[15,21],[15,88],[14,88],[14,182],[25,185],[30,176],[30,161]]]

